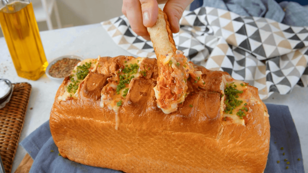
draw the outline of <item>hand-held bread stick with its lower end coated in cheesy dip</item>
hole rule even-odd
[[[177,111],[194,84],[204,88],[201,71],[176,50],[167,15],[159,9],[158,19],[153,27],[147,28],[157,57],[158,78],[154,87],[157,107],[169,114]]]

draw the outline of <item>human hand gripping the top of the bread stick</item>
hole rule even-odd
[[[122,13],[136,34],[150,40],[147,27],[156,23],[159,3],[166,3],[164,12],[168,16],[172,33],[177,33],[180,30],[179,20],[191,2],[193,0],[123,0]]]

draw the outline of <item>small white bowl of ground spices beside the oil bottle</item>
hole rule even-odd
[[[64,78],[68,76],[78,62],[83,58],[75,55],[66,55],[54,59],[46,68],[46,75],[53,81],[62,83]]]

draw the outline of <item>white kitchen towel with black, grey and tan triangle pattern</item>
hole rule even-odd
[[[152,42],[137,36],[124,15],[101,24],[124,50],[155,58]],[[200,7],[184,11],[180,32],[173,37],[192,62],[248,82],[258,88],[261,99],[308,85],[308,26]]]

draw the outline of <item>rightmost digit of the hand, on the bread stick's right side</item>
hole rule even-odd
[[[180,31],[180,18],[186,7],[192,2],[193,0],[168,0],[165,4],[164,12],[168,16],[172,33]]]

